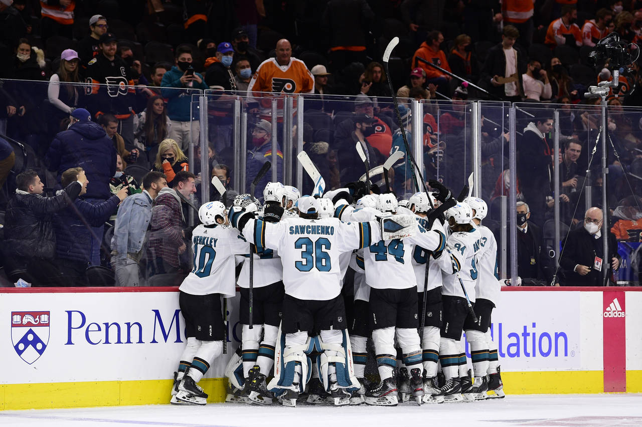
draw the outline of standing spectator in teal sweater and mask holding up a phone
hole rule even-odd
[[[169,138],[178,142],[182,151],[187,151],[190,142],[198,145],[200,134],[198,110],[194,108],[193,111],[191,106],[192,94],[197,92],[192,89],[208,88],[203,76],[192,68],[192,50],[189,47],[176,48],[176,65],[162,76],[160,86],[160,93],[168,99],[167,115],[171,121]]]

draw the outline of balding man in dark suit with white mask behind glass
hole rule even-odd
[[[564,242],[560,266],[564,269],[563,286],[603,286],[602,269],[620,267],[618,243],[609,232],[608,253],[603,251],[602,210],[590,208],[584,214],[584,227],[569,233]],[[607,261],[607,260],[610,260]],[[611,272],[607,277],[611,276]]]

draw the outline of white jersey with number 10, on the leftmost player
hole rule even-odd
[[[192,233],[192,271],[179,290],[192,295],[236,295],[234,256],[249,245],[232,226],[197,226]]]

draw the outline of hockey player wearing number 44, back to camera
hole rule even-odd
[[[336,196],[334,196],[336,197]],[[336,202],[335,215],[352,219],[354,212],[342,201]],[[392,194],[379,194],[377,210],[394,215],[397,199]],[[414,215],[413,215],[414,217]],[[441,251],[446,244],[443,233],[417,226],[419,233],[403,240],[375,240],[363,251],[366,283],[370,287],[369,309],[372,340],[377,353],[381,383],[365,394],[369,405],[397,405],[397,366],[395,335],[402,350],[403,364],[408,367],[410,390],[421,405],[422,351],[417,334],[417,281],[412,269],[413,244]]]

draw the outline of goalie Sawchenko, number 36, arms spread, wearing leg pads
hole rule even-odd
[[[318,219],[313,197],[299,199],[299,218],[273,224],[255,219],[252,206],[230,208],[232,224],[245,238],[281,255],[285,294],[281,339],[277,342],[275,375],[268,388],[283,405],[295,406],[309,378],[308,354],[316,347],[319,377],[335,405],[349,403],[349,391],[358,387],[352,373],[352,352],[345,331],[340,295],[340,254],[368,246],[381,237],[377,222],[341,222]],[[265,215],[271,213],[266,208]],[[320,331],[310,338],[308,332]]]

